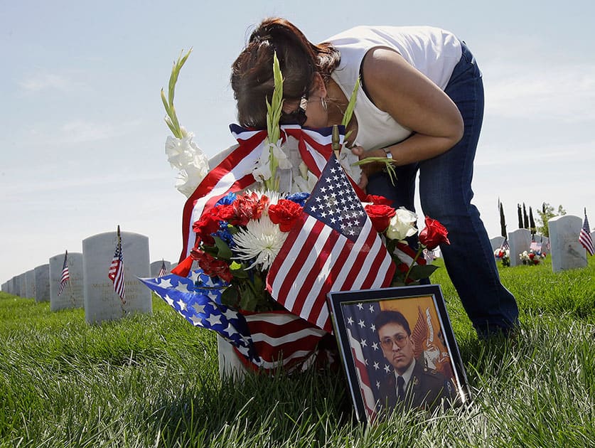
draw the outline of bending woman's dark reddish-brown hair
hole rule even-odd
[[[244,127],[267,127],[267,103],[273,96],[273,54],[283,74],[283,97],[307,95],[318,72],[327,82],[341,60],[331,43],[314,45],[284,18],[265,18],[232,64],[231,85],[237,101],[237,119]]]

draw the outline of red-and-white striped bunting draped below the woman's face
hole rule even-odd
[[[188,256],[195,245],[193,223],[200,219],[203,213],[213,208],[215,203],[227,193],[241,191],[255,182],[252,169],[267,144],[267,131],[266,129],[246,129],[237,124],[230,124],[230,130],[237,140],[237,148],[218,166],[209,171],[184,205],[182,214],[183,250],[180,261]],[[306,129],[296,124],[287,124],[281,127],[281,136],[284,141],[287,137],[294,137],[298,141],[301,159],[309,171],[319,177],[328,157],[333,152],[331,147],[332,130],[332,127]],[[343,144],[345,129],[339,127],[339,131],[340,142]],[[358,189],[358,194],[360,193],[363,192]]]

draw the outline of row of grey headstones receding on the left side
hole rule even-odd
[[[82,253],[68,252],[70,279],[58,295],[64,255],[50,257],[45,265],[23,272],[2,284],[2,292],[50,302],[51,311],[85,308],[90,323],[119,319],[126,314],[151,313],[151,291],[136,277],[157,277],[163,264],[169,273],[176,264],[159,260],[149,263],[149,238],[138,233],[121,232],[124,260],[125,301],[114,292],[107,277],[114,257],[117,233],[107,232],[82,240]]]

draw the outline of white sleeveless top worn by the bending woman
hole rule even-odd
[[[370,48],[392,48],[442,90],[461,59],[459,39],[449,31],[429,26],[357,26],[327,41],[341,52],[341,63],[331,78],[348,98],[360,75],[362,60]],[[378,109],[362,88],[358,91],[354,114],[358,120],[355,141],[365,149],[383,148],[412,134],[390,114]]]

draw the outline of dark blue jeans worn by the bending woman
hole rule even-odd
[[[444,92],[459,107],[463,138],[444,154],[417,164],[397,167],[397,185],[387,174],[370,176],[367,191],[386,196],[393,206],[414,210],[415,176],[425,215],[449,231],[450,245],[441,245],[444,264],[469,319],[480,336],[508,334],[518,324],[513,294],[500,283],[486,228],[473,204],[473,159],[483,121],[483,81],[471,51],[463,54]]]

